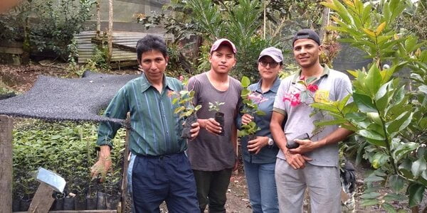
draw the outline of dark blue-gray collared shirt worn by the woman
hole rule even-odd
[[[273,85],[267,92],[263,92],[261,89],[262,80],[258,81],[255,84],[251,84],[248,89],[251,90],[257,97],[260,97],[259,100],[255,100],[255,103],[258,104],[258,110],[265,112],[264,116],[253,115],[253,121],[260,128],[259,131],[255,133],[256,136],[267,136],[273,139],[270,132],[270,120],[271,115],[273,114],[273,104],[275,101],[278,88],[280,86],[280,79],[276,77]],[[243,114],[239,113],[236,124],[238,129],[241,129]],[[249,163],[274,163],[276,155],[278,154],[279,148],[275,145],[265,146],[261,151],[256,155],[251,155],[248,152],[248,137],[243,137],[241,140],[241,147],[243,153],[243,159]]]

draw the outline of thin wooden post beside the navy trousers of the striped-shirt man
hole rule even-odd
[[[125,121],[126,138],[125,138],[125,153],[123,153],[123,181],[122,181],[122,213],[126,212],[127,207],[127,168],[129,167],[129,135],[130,135],[130,112],[127,112]]]

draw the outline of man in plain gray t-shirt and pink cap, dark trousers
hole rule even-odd
[[[238,162],[234,122],[242,87],[238,80],[228,76],[236,65],[236,47],[230,40],[216,40],[209,62],[211,70],[191,77],[187,86],[195,92],[194,104],[202,106],[197,111],[201,130],[194,141],[189,141],[187,153],[196,179],[200,211],[204,212],[209,204],[209,212],[226,212],[226,192]],[[224,103],[220,106],[224,114],[222,129],[214,119],[215,111],[209,111],[209,102]],[[221,131],[223,136],[219,135]]]

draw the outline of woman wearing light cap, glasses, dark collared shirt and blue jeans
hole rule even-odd
[[[260,80],[251,84],[251,99],[258,104],[258,109],[265,112],[265,116],[251,116],[240,114],[237,119],[238,127],[255,121],[260,130],[256,138],[248,141],[243,137],[241,141],[243,165],[253,212],[279,212],[278,194],[275,185],[275,159],[279,148],[275,145],[270,133],[270,119],[273,104],[280,79],[278,72],[283,67],[282,51],[278,48],[265,48],[258,58],[258,72]]]

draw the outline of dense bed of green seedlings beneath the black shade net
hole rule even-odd
[[[88,190],[119,192],[125,132],[119,131],[112,149],[112,173],[102,184],[91,180],[90,167],[97,160],[97,125],[46,123],[25,120],[13,132],[14,195],[32,195],[38,182],[31,172],[43,167],[67,181],[66,190],[84,195]]]

